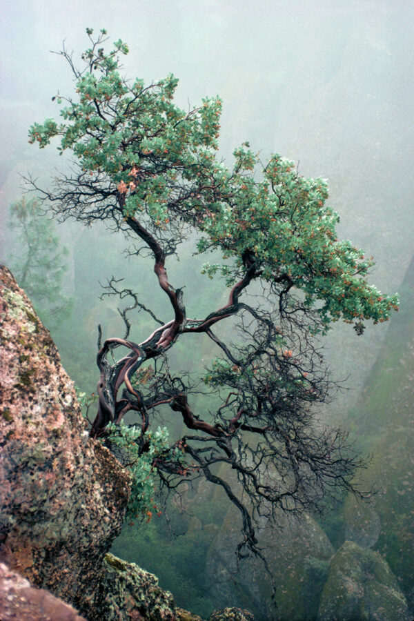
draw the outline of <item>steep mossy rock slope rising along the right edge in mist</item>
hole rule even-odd
[[[400,312],[352,414],[355,436],[364,453],[373,455],[359,484],[377,493],[369,513],[362,507],[364,513],[355,516],[355,502],[347,502],[344,518],[346,538],[362,547],[376,541],[414,618],[414,259],[400,295]],[[362,526],[364,519],[365,532],[355,536],[355,520]]]

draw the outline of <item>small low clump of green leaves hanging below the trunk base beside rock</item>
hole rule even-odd
[[[157,511],[155,504],[155,465],[157,460],[172,460],[176,463],[184,460],[184,456],[177,447],[170,449],[168,446],[167,428],[158,427],[155,431],[144,433],[138,426],[129,426],[121,422],[117,425],[109,423],[106,427],[111,450],[114,451],[121,462],[128,468],[131,474],[131,495],[127,518],[145,515],[148,521],[152,512]],[[142,445],[146,443],[146,451],[142,451]]]

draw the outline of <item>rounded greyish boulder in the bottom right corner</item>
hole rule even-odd
[[[346,541],[335,554],[317,621],[406,621],[407,602],[378,552]]]

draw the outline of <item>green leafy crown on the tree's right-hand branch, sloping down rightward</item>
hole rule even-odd
[[[238,166],[243,166],[241,153],[246,155],[235,152]],[[292,279],[304,294],[305,306],[317,308],[324,331],[340,317],[346,322],[388,319],[397,310],[398,297],[369,286],[372,257],[366,259],[363,250],[337,239],[339,217],[325,204],[326,181],[299,177],[293,161],[279,155],[270,158],[263,172],[260,183],[253,177],[238,179],[237,204],[220,206],[206,219],[208,237],[201,238],[199,250],[221,248],[224,257],[241,257],[244,249],[253,249],[262,277],[268,282],[280,275]],[[218,268],[229,272],[225,264],[204,269],[212,275]]]

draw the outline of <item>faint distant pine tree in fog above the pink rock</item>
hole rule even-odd
[[[62,293],[68,248],[37,199],[23,197],[10,206],[9,228],[14,232],[10,268],[43,322],[54,326],[72,310],[72,300]]]

